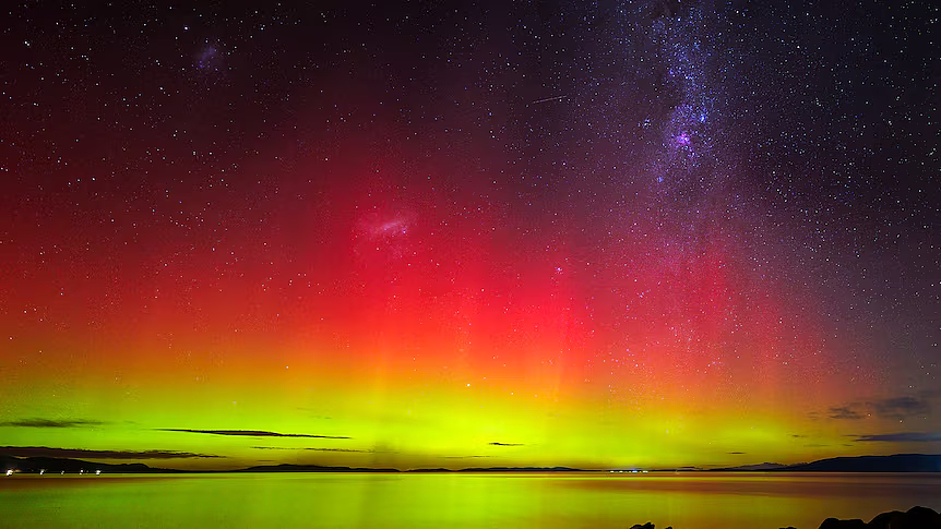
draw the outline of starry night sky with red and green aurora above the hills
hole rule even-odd
[[[941,452],[937,2],[87,3],[0,16],[0,455]]]

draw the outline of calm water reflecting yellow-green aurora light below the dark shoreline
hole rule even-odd
[[[0,477],[2,527],[815,529],[913,505],[941,474]]]

